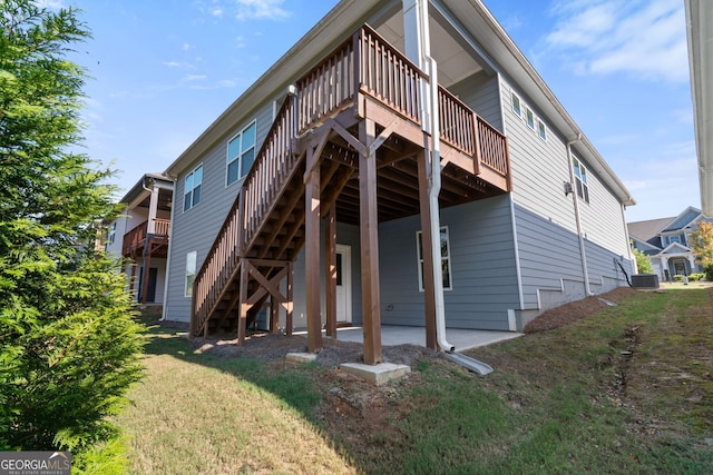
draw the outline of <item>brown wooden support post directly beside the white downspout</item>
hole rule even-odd
[[[423,258],[423,300],[426,306],[426,347],[438,349],[436,339],[436,286],[431,239],[431,207],[429,205],[428,150],[421,150],[416,159],[419,167],[419,201],[421,207],[421,257]],[[440,263],[439,263],[440,265]]]

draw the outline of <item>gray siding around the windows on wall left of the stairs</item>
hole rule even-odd
[[[197,268],[201,268],[215,237],[223,226],[240,184],[225,185],[227,141],[245,126],[256,120],[256,147],[260,149],[272,126],[273,106],[267,101],[256,115],[246,117],[234,129],[218,140],[199,160],[187,167],[176,180],[174,202],[176,209],[172,221],[170,269],[168,276],[167,310],[169,320],[188,321],[191,319],[191,297],[185,296],[186,255],[197,253]],[[185,176],[203,165],[201,202],[184,211]]]

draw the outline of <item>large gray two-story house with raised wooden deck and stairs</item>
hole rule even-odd
[[[353,323],[374,363],[382,324],[521,330],[634,267],[635,201],[480,1],[341,1],[166,175],[193,334]]]

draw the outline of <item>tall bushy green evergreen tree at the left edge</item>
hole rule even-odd
[[[0,0],[0,449],[70,449],[78,468],[116,462],[107,416],[141,375],[119,263],[94,245],[110,171],[69,151],[87,38],[76,10]]]

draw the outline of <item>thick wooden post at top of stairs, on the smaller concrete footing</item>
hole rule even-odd
[[[307,151],[307,168],[319,157]],[[322,349],[322,315],[320,303],[320,167],[312,167],[304,187],[305,199],[305,268],[307,350],[319,353]]]

